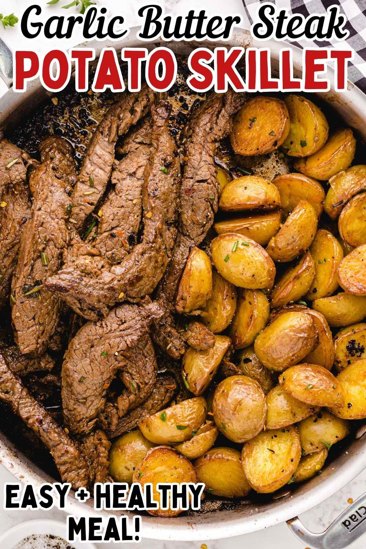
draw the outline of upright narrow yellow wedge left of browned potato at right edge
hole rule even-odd
[[[315,276],[306,299],[326,298],[338,288],[338,267],[343,250],[329,231],[319,229],[309,249],[315,265]]]

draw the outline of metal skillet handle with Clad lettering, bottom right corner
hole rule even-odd
[[[342,549],[366,533],[366,494],[360,496],[321,534],[305,528],[299,517],[287,521],[292,533],[311,549]]]

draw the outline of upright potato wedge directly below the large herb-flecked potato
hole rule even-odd
[[[241,290],[237,310],[230,325],[234,349],[243,349],[254,343],[256,335],[266,326],[269,303],[261,290]]]

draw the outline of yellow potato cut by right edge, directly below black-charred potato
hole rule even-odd
[[[344,390],[345,405],[339,409],[329,408],[336,416],[344,419],[366,417],[366,358],[359,358],[337,375]]]

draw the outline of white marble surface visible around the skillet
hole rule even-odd
[[[46,0],[38,2],[40,5],[44,5],[43,15],[49,16],[54,13],[66,14],[65,10],[58,9],[58,6],[47,7]],[[63,5],[67,3],[66,0],[60,0],[58,5]],[[102,3],[102,2],[100,2]],[[103,4],[106,5],[111,13],[120,13],[125,16],[125,20],[128,25],[134,26],[139,23],[137,16],[137,10],[140,5],[144,5],[147,2],[143,0],[104,0]],[[196,3],[193,0],[165,0],[160,3],[165,5],[166,12],[178,14],[184,13],[192,7],[196,7]],[[287,0],[281,0],[278,2],[280,5],[286,6]],[[0,13],[8,14],[14,12],[15,15],[19,16],[27,5],[30,5],[30,2],[26,0],[12,0],[8,2],[7,0],[0,0]],[[222,11],[222,0],[201,0],[199,3],[200,8],[205,8],[207,13],[215,14]],[[226,0],[225,2],[225,12],[229,13],[241,13],[244,18],[244,27],[247,27],[247,19],[245,16],[245,11],[243,9],[243,4],[241,0]],[[75,9],[75,8],[73,8]],[[18,27],[14,29],[7,29],[4,31],[0,25],[0,35],[9,43],[12,47],[16,46],[18,48],[29,48],[35,51],[44,51],[44,49],[49,48],[49,41],[38,39],[37,40],[27,40],[22,37]],[[63,46],[72,46],[81,42],[81,37],[75,37],[73,40],[70,40],[68,43],[64,41]],[[58,43],[57,46],[60,44]],[[55,43],[53,43],[55,46]],[[1,83],[0,83],[1,84]],[[4,87],[0,85],[0,94],[3,93]],[[3,493],[2,486],[5,482],[14,481],[14,477],[3,466],[0,465],[0,488],[1,494]],[[366,491],[366,470],[358,475],[350,484],[348,484],[344,489],[337,492],[333,497],[326,500],[321,505],[313,508],[311,511],[304,513],[301,516],[304,524],[311,530],[320,532],[328,526],[336,516],[343,511],[348,504],[347,500],[353,498],[355,500],[358,496],[363,494]],[[1,495],[1,497],[3,497]],[[1,503],[0,507],[0,534],[4,531],[12,528],[16,524],[25,522],[26,520],[40,518],[52,518],[56,520],[61,520],[64,522],[65,513],[53,509],[49,512],[41,511],[4,511],[3,505]],[[100,547],[105,547],[105,545],[99,544]],[[162,542],[162,541],[153,541],[153,540],[143,540],[140,544],[140,547],[143,549],[158,549],[158,548],[171,548],[174,549],[188,549],[188,548],[199,548],[201,542]],[[271,549],[305,549],[305,546],[301,542],[297,541],[295,537],[291,534],[286,524],[279,524],[277,526],[272,526],[266,530],[256,532],[254,534],[247,534],[245,536],[233,537],[230,540],[216,540],[216,541],[207,541],[206,545],[208,549],[224,549],[229,547],[231,549],[241,549],[241,548],[254,548],[254,547],[268,547]],[[125,544],[125,547],[136,547],[135,544]],[[352,545],[352,549],[364,549],[365,539],[358,540],[355,544]],[[11,548],[4,548],[11,549]]]

